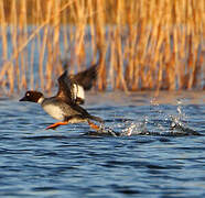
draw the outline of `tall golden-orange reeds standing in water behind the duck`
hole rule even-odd
[[[100,91],[205,90],[204,0],[1,0],[0,44],[7,95],[51,92],[62,59],[99,59]]]

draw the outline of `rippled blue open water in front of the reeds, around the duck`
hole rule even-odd
[[[204,96],[88,94],[101,134],[1,98],[0,197],[205,197]]]

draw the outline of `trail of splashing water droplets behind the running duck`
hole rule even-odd
[[[176,109],[173,106],[168,113],[164,106],[158,103],[155,99],[150,101],[150,111],[143,116],[142,120],[119,119],[115,117],[110,125],[102,124],[95,135],[109,136],[132,136],[132,135],[198,135],[198,133],[187,127],[187,116],[183,110],[183,100],[176,101]]]

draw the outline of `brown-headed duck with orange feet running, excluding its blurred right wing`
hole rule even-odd
[[[46,113],[58,120],[58,122],[48,125],[46,130],[80,122],[87,122],[91,129],[99,130],[100,127],[93,121],[102,124],[104,120],[99,117],[91,116],[78,105],[78,95],[75,90],[76,84],[72,79],[72,76],[67,75],[67,70],[58,77],[57,81],[58,91],[55,96],[46,98],[40,91],[28,90],[19,101],[40,103]]]

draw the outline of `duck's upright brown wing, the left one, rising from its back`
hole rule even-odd
[[[65,70],[57,79],[58,81],[58,92],[57,98],[64,100],[66,103],[76,103],[77,92],[75,91],[74,81],[67,76],[67,70]]]

